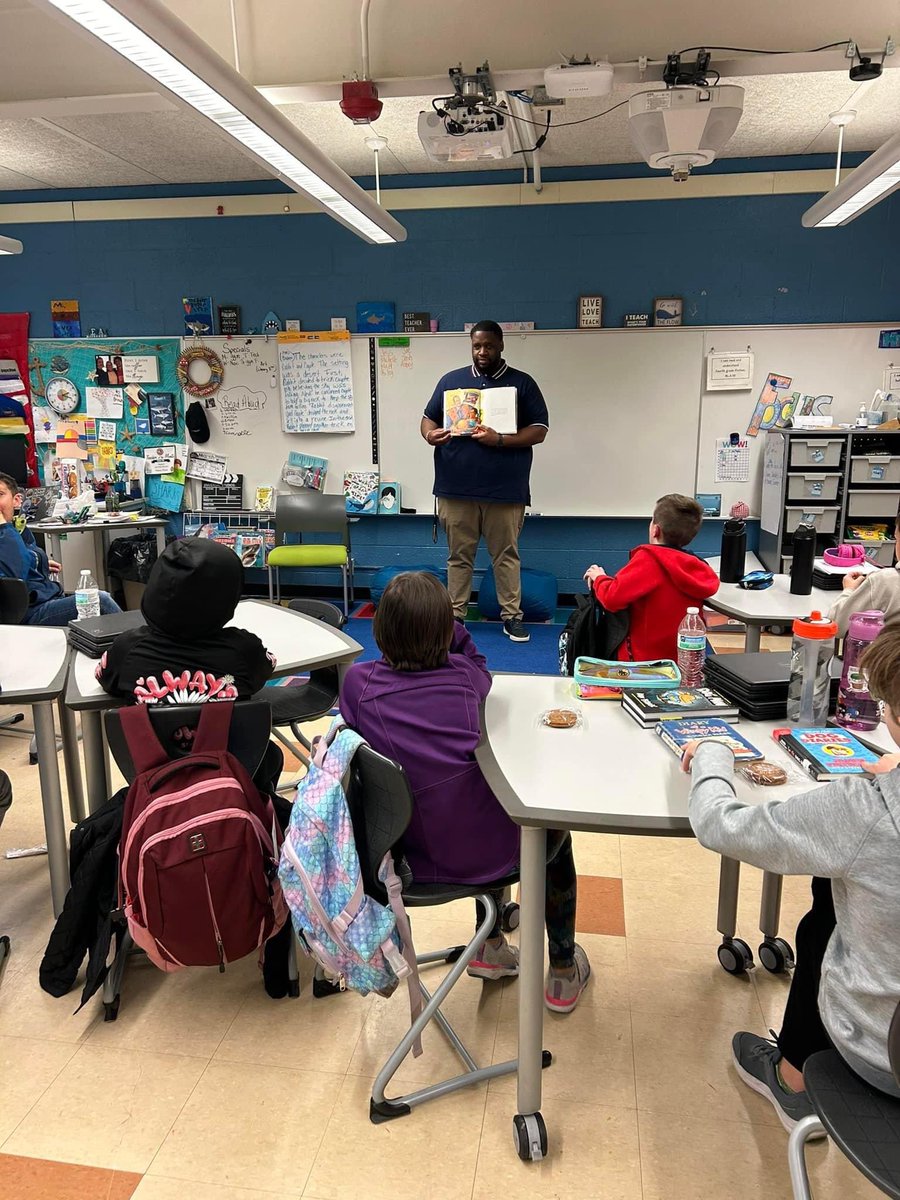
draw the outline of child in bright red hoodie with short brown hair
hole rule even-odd
[[[719,576],[685,550],[703,522],[690,496],[664,496],[650,517],[649,542],[636,546],[625,566],[607,575],[594,564],[584,572],[594,595],[610,612],[628,608],[629,634],[620,660],[674,659],[678,626],[689,606],[700,606],[719,588]]]

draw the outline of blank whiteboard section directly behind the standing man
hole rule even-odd
[[[400,481],[404,508],[431,511],[433,451],[419,422],[469,347],[468,334],[421,334],[378,350],[382,479]],[[666,492],[692,494],[702,354],[702,329],[508,334],[505,359],[536,379],[550,410],[534,448],[535,514],[647,516]]]

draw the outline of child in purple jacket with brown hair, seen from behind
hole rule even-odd
[[[374,617],[383,658],[349,668],[341,714],[373,749],[406,769],[415,798],[403,851],[420,883],[492,883],[518,866],[518,829],[475,761],[479,708],[491,673],[446,588],[427,572],[397,575]],[[571,834],[547,838],[546,1006],[570,1013],[590,977],[575,942],[576,875]],[[500,979],[518,972],[518,952],[497,925],[468,973]]]

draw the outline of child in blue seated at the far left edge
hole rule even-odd
[[[22,508],[22,488],[12,478],[0,472],[0,577],[23,580],[29,588],[31,604],[22,618],[23,625],[67,625],[74,620],[74,596],[67,596],[52,570],[59,570],[34,539],[30,529],[16,528],[16,514]],[[100,593],[101,614],[120,612],[108,592]]]

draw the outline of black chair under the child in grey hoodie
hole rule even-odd
[[[900,1004],[888,1031],[888,1061],[900,1085]],[[797,1122],[787,1142],[794,1200],[812,1200],[804,1147],[823,1133],[876,1188],[900,1200],[900,1099],[862,1080],[836,1050],[811,1055],[803,1081],[816,1111]]]

